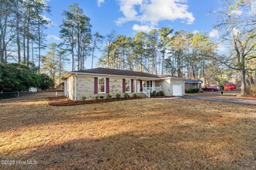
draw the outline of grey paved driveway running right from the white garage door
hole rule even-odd
[[[185,96],[184,98],[227,101],[227,102],[233,102],[233,103],[237,103],[237,104],[255,104],[256,105],[256,100],[234,99],[234,98],[227,98],[227,97]]]

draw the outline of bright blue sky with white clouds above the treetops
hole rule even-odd
[[[211,12],[221,8],[219,0],[47,0],[51,12],[46,14],[53,26],[49,26],[47,42],[61,42],[59,26],[64,10],[74,2],[91,19],[92,32],[103,36],[115,30],[117,34],[134,36],[138,31],[170,26],[178,31],[204,32],[216,40],[218,32],[213,29],[216,16]],[[96,54],[98,57],[100,53]],[[91,59],[88,57],[87,68]],[[67,66],[67,70],[69,70]]]

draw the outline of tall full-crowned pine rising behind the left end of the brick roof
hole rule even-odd
[[[82,70],[87,46],[90,45],[88,42],[92,39],[90,19],[83,14],[83,10],[76,3],[70,5],[69,11],[64,11],[63,15],[61,38],[64,39],[66,49],[71,52],[72,70],[75,70],[75,61],[78,61],[78,70]]]

